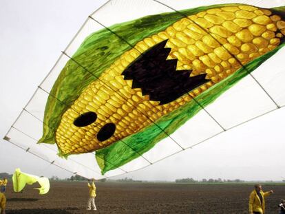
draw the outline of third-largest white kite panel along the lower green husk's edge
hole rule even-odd
[[[145,157],[149,162],[154,163],[162,158],[172,155],[182,151],[171,138],[165,138],[158,142],[152,149],[144,153],[142,156]]]

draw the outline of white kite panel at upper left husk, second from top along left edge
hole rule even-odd
[[[68,45],[68,47],[65,49],[65,53],[68,56],[73,56],[76,50],[78,50],[78,47],[80,47],[80,45],[83,43],[83,41],[86,39],[87,36],[98,30],[101,30],[102,28],[103,28],[102,25],[99,25],[94,20],[88,17],[81,30],[79,30],[78,34],[76,34],[76,37],[72,40],[70,45]]]

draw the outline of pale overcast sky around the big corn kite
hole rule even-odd
[[[103,2],[0,1],[1,138],[87,16]],[[282,180],[285,177],[284,118],[284,108],[278,109],[193,149],[117,178]],[[1,139],[0,172],[12,173],[17,167],[47,177],[72,175]]]

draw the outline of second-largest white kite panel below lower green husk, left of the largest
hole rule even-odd
[[[201,110],[196,116],[193,116],[193,118],[171,134],[171,138],[175,139],[176,142],[186,149],[222,131],[223,129],[217,122],[206,111]]]

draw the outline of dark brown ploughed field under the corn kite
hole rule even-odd
[[[97,182],[98,211],[86,211],[86,182],[51,182],[50,192],[39,195],[27,186],[14,193],[8,184],[6,213],[248,213],[253,185],[235,184],[156,184]],[[285,185],[263,185],[275,193],[266,198],[266,214],[277,214]]]

